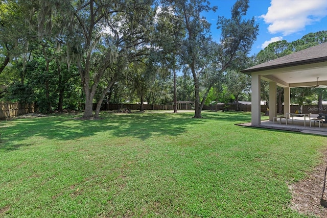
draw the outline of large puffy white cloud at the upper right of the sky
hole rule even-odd
[[[290,35],[327,16],[326,0],[271,0],[270,4],[260,17],[269,24],[271,34]]]

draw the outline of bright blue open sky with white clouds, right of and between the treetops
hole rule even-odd
[[[217,17],[229,18],[236,0],[209,1],[211,6],[218,6],[218,10],[204,16],[212,23],[213,39],[219,41]],[[258,54],[273,41],[292,42],[308,33],[327,30],[326,0],[249,0],[249,6],[247,17],[255,17],[260,29],[250,55]]]

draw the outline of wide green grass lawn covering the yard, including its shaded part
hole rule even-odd
[[[0,122],[0,217],[305,217],[288,184],[326,137],[235,126],[250,113]]]

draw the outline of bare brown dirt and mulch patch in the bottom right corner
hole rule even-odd
[[[327,150],[323,153],[322,163],[314,169],[307,179],[289,186],[292,191],[292,209],[306,215],[327,217],[327,208],[320,205],[326,165]],[[327,200],[327,196],[324,196],[324,199]]]

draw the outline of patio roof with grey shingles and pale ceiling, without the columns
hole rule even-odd
[[[327,42],[274,59],[242,72],[259,74],[261,79],[275,81],[282,87],[327,85]]]

